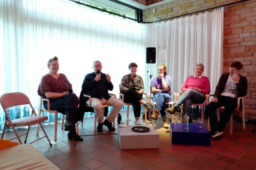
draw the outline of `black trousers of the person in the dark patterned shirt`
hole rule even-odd
[[[139,101],[141,99],[143,99],[142,94],[139,94],[134,89],[129,89],[124,92],[124,103],[132,103],[134,117],[140,117],[141,104]]]

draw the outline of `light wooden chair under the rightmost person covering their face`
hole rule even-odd
[[[214,95],[209,95],[209,99],[207,101],[207,104],[210,103],[210,97],[211,96],[214,96]],[[243,129],[245,129],[245,116],[244,116],[244,97],[238,97],[237,99],[237,107],[234,109],[234,111],[238,111],[239,112],[239,107],[240,107],[240,102],[242,101],[242,121],[243,121]],[[218,117],[218,121],[220,120],[220,109],[225,109],[224,106],[221,106],[219,108],[217,108],[217,117]],[[233,134],[233,113],[230,117],[230,126],[229,126],[229,133],[230,134]],[[211,129],[210,127],[210,120],[209,120],[209,117],[208,117],[208,124],[207,124],[207,129]]]

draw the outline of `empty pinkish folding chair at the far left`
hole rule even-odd
[[[25,142],[24,142],[24,143],[26,143],[30,126],[38,123],[39,126],[41,126],[41,128],[42,128],[42,130],[45,134],[44,137],[47,138],[50,146],[52,146],[52,143],[49,140],[49,138],[48,138],[48,136],[47,136],[47,134],[46,134],[46,132],[43,128],[43,125],[42,125],[42,122],[48,120],[48,117],[47,116],[37,116],[36,112],[34,110],[34,107],[31,105],[29,98],[25,94],[23,94],[21,92],[11,92],[11,93],[4,94],[1,97],[1,105],[3,107],[4,113],[5,113],[5,116],[6,116],[1,139],[3,139],[3,137],[4,137],[5,129],[7,127],[12,127],[12,129],[13,129],[15,135],[16,135],[15,138],[17,138],[19,140],[20,144],[22,145],[20,137],[22,135],[26,134],[26,138],[25,138]],[[9,114],[7,113],[7,108],[10,108],[10,107],[13,107],[13,106],[20,106],[20,105],[29,105],[30,108],[32,109],[31,115],[27,116],[27,117],[21,117],[21,118],[15,118],[14,117],[14,120],[11,120],[11,118],[9,117]],[[17,131],[15,130],[15,127],[19,127],[19,126],[28,126],[27,133],[19,135],[17,133]],[[42,137],[42,138],[44,138],[44,137]],[[15,138],[13,138],[13,139],[15,139]],[[35,141],[38,141],[42,138],[39,138]],[[12,140],[12,139],[10,139],[10,140]],[[35,141],[33,141],[31,143],[34,143]]]

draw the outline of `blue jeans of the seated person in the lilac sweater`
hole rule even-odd
[[[165,102],[171,101],[172,97],[171,94],[165,94],[161,92],[157,92],[153,94],[152,100],[156,102],[156,109],[160,111],[161,116],[164,117],[166,116],[165,113]]]

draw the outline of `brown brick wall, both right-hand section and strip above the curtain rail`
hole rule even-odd
[[[143,10],[143,21],[157,21],[228,4],[226,0],[175,0]],[[153,13],[156,8],[156,13]],[[256,0],[224,7],[223,72],[233,61],[243,63],[248,91],[244,100],[246,118],[256,119]],[[238,114],[241,116],[241,113]]]

